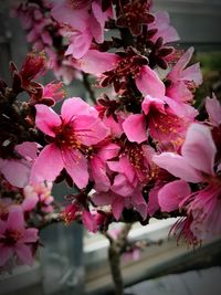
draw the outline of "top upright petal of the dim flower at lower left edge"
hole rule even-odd
[[[24,215],[20,207],[15,207],[9,212],[9,217],[7,220],[7,229],[18,231],[24,230]]]

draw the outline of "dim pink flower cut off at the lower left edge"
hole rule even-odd
[[[36,229],[25,229],[22,210],[17,207],[6,221],[0,220],[0,266],[17,256],[24,264],[33,262],[31,245],[39,240]]]

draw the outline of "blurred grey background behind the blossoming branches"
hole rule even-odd
[[[196,94],[196,104],[203,106],[203,98],[215,92],[221,95],[221,0],[155,0],[156,10],[166,10],[171,24],[180,35],[180,48],[196,49],[196,61],[200,61],[203,72],[203,86]],[[10,81],[9,61],[18,66],[31,49],[25,41],[25,33],[18,19],[9,18],[9,1],[0,1],[0,76]],[[54,80],[49,74],[43,82]],[[66,86],[69,96],[87,99],[87,93],[80,81]],[[65,185],[54,188],[53,196],[63,202],[69,193]],[[149,283],[129,287],[128,293],[147,294],[221,294],[218,287],[221,281],[221,241],[217,240],[192,251],[187,245],[177,246],[175,239],[168,240],[168,232],[175,220],[152,220],[148,226],[135,224],[130,239],[162,241],[160,245],[150,245],[140,253],[139,259],[123,261],[125,286],[141,281]],[[120,225],[120,224],[119,224]],[[71,295],[71,294],[110,294],[112,281],[107,262],[108,241],[99,234],[84,232],[80,224],[64,226],[53,224],[42,231],[43,247],[33,267],[18,267],[13,274],[0,277],[0,295]],[[212,267],[212,268],[211,268]],[[199,271],[200,270],[200,271]],[[203,271],[212,270],[210,275]],[[193,271],[187,277],[166,275]],[[207,282],[213,277],[215,284]],[[154,280],[162,277],[161,281]],[[220,281],[219,281],[220,278]],[[201,280],[201,281],[200,281]],[[185,283],[183,283],[185,282]],[[202,283],[203,282],[203,283]],[[201,289],[194,287],[201,284]],[[168,286],[169,284],[169,286]],[[207,289],[207,286],[209,288]],[[145,286],[145,287],[144,287]],[[182,289],[178,288],[182,287]],[[145,289],[145,291],[144,291]],[[146,292],[146,293],[145,293]],[[156,292],[156,293],[154,293]],[[160,293],[161,292],[161,293]],[[176,293],[177,292],[177,293]],[[188,293],[189,292],[189,293]],[[206,292],[206,293],[203,293]]]

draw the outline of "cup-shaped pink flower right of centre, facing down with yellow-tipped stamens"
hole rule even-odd
[[[171,106],[171,107],[170,107]],[[141,103],[144,114],[129,115],[123,129],[130,141],[143,143],[149,135],[164,148],[177,149],[183,143],[187,127],[193,122],[192,109],[175,104],[168,97],[147,95]]]

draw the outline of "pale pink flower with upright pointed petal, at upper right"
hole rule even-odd
[[[193,48],[190,48],[167,75],[166,95],[177,102],[191,102],[196,88],[202,83],[199,63],[186,67],[192,54]]]

